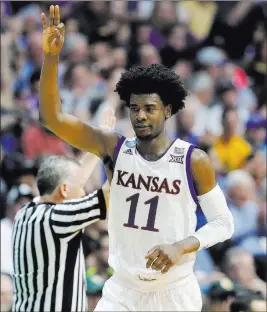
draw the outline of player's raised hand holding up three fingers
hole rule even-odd
[[[60,23],[59,6],[51,5],[49,23],[44,13],[41,14],[43,24],[43,51],[47,55],[58,55],[64,44],[65,27]]]

